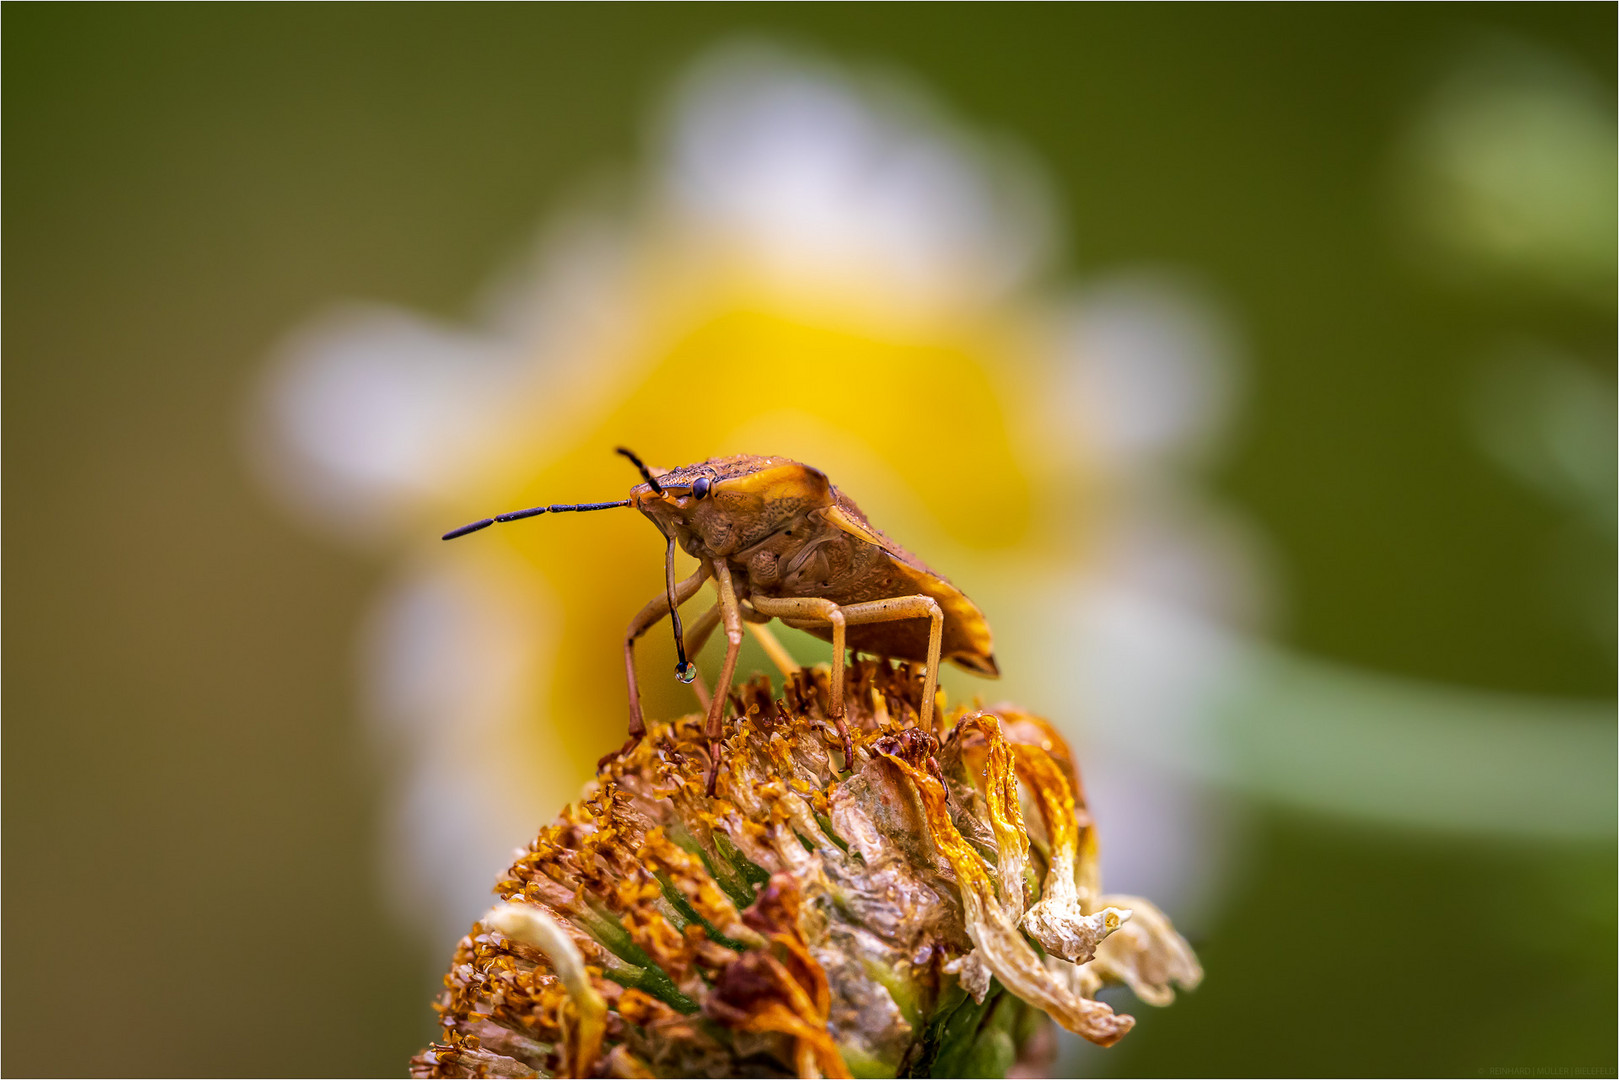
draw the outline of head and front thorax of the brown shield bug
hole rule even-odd
[[[819,470],[788,458],[711,458],[665,473],[643,471],[630,504],[691,555],[724,557],[792,528],[832,504]]]

